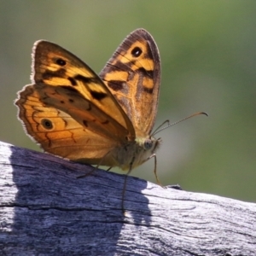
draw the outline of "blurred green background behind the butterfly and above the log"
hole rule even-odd
[[[125,36],[148,30],[160,49],[155,125],[164,185],[256,201],[256,1],[0,1],[0,140],[39,150],[16,118],[32,44],[47,39],[99,73]],[[131,175],[155,183],[154,160]]]

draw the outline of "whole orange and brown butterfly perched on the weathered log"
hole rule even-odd
[[[146,30],[131,32],[99,75],[67,49],[37,41],[31,80],[18,92],[15,105],[26,133],[45,152],[90,165],[118,166],[127,174],[154,158],[160,183],[155,152],[161,139],[152,133],[160,54]]]

